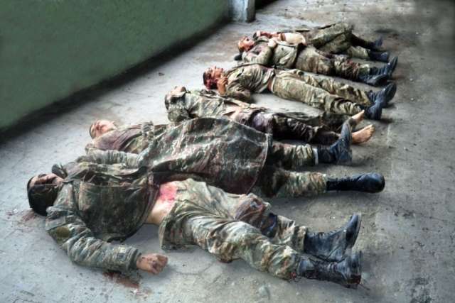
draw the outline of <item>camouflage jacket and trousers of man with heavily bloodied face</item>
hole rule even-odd
[[[372,105],[367,92],[299,70],[278,71],[258,64],[245,64],[228,70],[225,75],[228,77],[227,97],[248,100],[251,92],[262,92],[262,87],[267,87],[263,83],[267,81],[272,83],[272,92],[278,97],[301,101],[335,114],[352,116]]]

